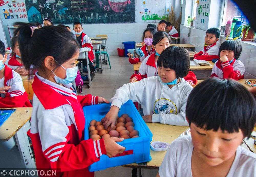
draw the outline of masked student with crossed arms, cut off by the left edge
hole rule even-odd
[[[5,64],[6,60],[5,46],[0,41],[0,107],[32,107],[20,75]]]

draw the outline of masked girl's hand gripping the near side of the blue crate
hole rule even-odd
[[[116,143],[123,140],[124,138],[116,138],[116,137],[105,139],[104,144],[107,151],[107,156],[113,157],[116,154],[123,153],[123,151],[125,150],[125,147],[120,146],[118,143]]]

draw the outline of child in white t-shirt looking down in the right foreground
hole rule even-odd
[[[256,176],[256,154],[240,146],[256,123],[256,103],[231,79],[198,84],[187,100],[191,136],[170,145],[156,176]]]

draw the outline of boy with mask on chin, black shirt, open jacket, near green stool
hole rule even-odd
[[[80,22],[75,22],[73,24],[73,30],[75,32],[75,36],[76,36],[76,39],[78,41],[78,43],[82,46],[82,47],[89,47],[91,48],[91,51],[88,52],[88,57],[89,57],[89,66],[90,66],[90,71],[91,71],[91,79],[93,79],[95,77],[95,73],[96,73],[96,70],[92,64],[92,61],[94,60],[94,54],[93,54],[93,51],[92,51],[92,41],[91,39],[89,38],[89,36],[87,36],[86,34],[84,34],[82,32],[83,28],[82,28],[82,24]],[[84,61],[84,65],[86,66],[86,60]]]

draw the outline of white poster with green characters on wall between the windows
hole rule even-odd
[[[198,0],[196,8],[196,25],[195,28],[207,30],[209,23],[211,0]]]

